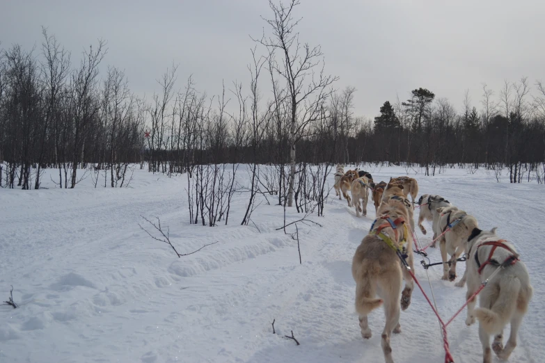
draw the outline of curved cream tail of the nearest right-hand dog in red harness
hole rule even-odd
[[[475,317],[481,323],[484,331],[489,334],[500,332],[511,320],[516,301],[519,298],[521,281],[518,277],[505,277],[500,280],[500,294],[490,309],[479,307],[475,309]]]

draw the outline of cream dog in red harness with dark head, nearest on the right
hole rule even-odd
[[[468,241],[467,276],[468,291],[466,300],[479,289],[482,281],[488,284],[479,294],[480,307],[475,309],[476,298],[468,303],[466,324],[479,321],[479,339],[482,344],[482,361],[491,363],[491,350],[500,360],[507,360],[516,347],[516,334],[521,327],[522,318],[528,311],[528,303],[533,295],[530,276],[526,265],[519,261],[514,245],[498,239],[496,228],[490,232],[473,229]],[[493,273],[497,275],[489,278]],[[503,329],[511,323],[509,340],[503,346]],[[494,334],[492,349],[490,335]]]

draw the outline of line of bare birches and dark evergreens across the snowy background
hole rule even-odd
[[[40,188],[45,168],[58,170],[53,181],[60,188],[89,176],[95,187],[127,186],[135,166],[184,174],[192,223],[216,213],[207,222],[213,225],[228,218],[238,164],[251,175],[246,214],[257,193],[301,210],[306,198],[323,202],[317,190],[324,175],[309,168],[317,164],[326,173],[334,163],[386,162],[426,175],[463,165],[496,177],[506,171],[512,182],[544,181],[542,83],[505,81],[496,93],[483,85],[482,99],[473,105],[466,93],[461,111],[416,88],[405,101],[384,102],[374,120],[358,117],[356,88],[335,90],[338,78],[325,72],[321,48],[299,39],[298,4],[270,2],[267,29],[250,54],[250,83],[224,84],[212,97],[191,77],[177,86],[176,65],[150,99],[136,97],[119,68],[100,74],[102,40],[76,64],[46,29],[38,49],[1,50],[0,185]],[[225,200],[216,200],[219,189]]]

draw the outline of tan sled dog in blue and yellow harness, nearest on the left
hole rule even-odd
[[[379,214],[381,217],[373,224],[370,234],[356,249],[352,259],[352,277],[356,281],[356,312],[361,336],[364,339],[372,336],[368,315],[384,305],[386,324],[381,334],[381,346],[386,363],[393,363],[390,335],[401,332],[400,301],[402,310],[409,307],[414,287],[411,275],[397,254],[405,253],[407,263],[413,268],[413,240],[404,227],[409,218],[404,202],[395,199],[383,202]],[[405,288],[402,291],[403,280]]]

